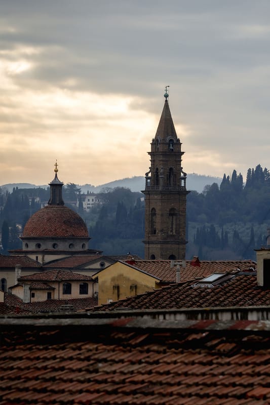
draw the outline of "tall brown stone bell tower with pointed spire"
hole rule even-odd
[[[151,142],[149,171],[145,173],[144,258],[184,260],[186,228],[186,173],[182,168],[181,142],[165,104],[155,138]]]

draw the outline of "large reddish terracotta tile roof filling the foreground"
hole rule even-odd
[[[242,329],[215,321],[178,329],[128,328],[132,319],[102,327],[44,321],[1,325],[1,405],[270,403],[270,337],[260,330],[267,321],[244,321]]]

